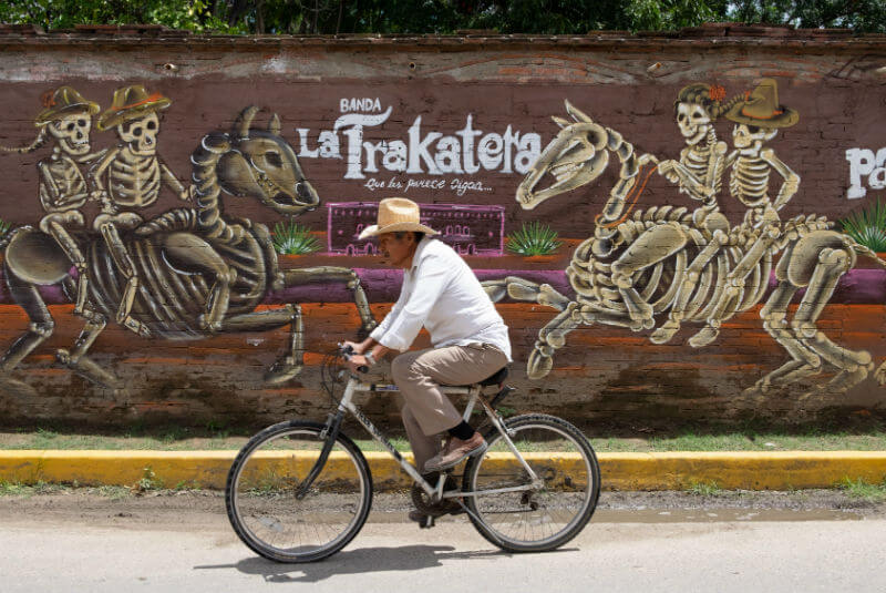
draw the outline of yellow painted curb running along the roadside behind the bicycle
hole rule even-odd
[[[282,452],[266,453],[278,464]],[[78,482],[83,485],[132,485],[148,479],[165,488],[225,487],[236,451],[0,451],[0,482]],[[301,470],[316,453],[298,459]],[[563,468],[578,462],[565,453],[525,453],[533,462]],[[383,452],[365,453],[375,488],[408,488],[409,477]],[[404,456],[411,460],[411,456]],[[868,483],[886,480],[886,451],[668,452],[600,453],[602,488],[607,490],[682,490],[715,482],[723,489],[790,490],[830,488],[845,478]],[[491,463],[513,461],[493,453]],[[291,466],[291,464],[290,464]],[[347,458],[333,454],[324,470],[329,479],[353,476]]]

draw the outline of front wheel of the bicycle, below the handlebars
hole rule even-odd
[[[341,433],[306,495],[296,498],[323,447],[322,430],[323,425],[298,420],[274,425],[246,443],[228,472],[230,524],[246,545],[269,560],[313,562],[332,555],[369,515],[369,464]]]

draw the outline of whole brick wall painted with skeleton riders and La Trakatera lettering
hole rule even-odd
[[[399,293],[389,195],[496,301],[515,407],[886,415],[886,38],[734,31],[0,34],[3,423],[321,418]]]

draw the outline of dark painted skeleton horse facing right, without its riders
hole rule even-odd
[[[265,225],[235,219],[222,211],[220,193],[251,197],[284,215],[313,209],[320,202],[305,178],[292,147],[280,136],[277,115],[267,130],[251,127],[258,108],[246,109],[230,133],[212,132],[192,155],[196,208],[169,211],[123,235],[135,257],[142,283],[132,314],[153,336],[195,339],[220,331],[266,331],[290,326],[287,352],[269,369],[266,380],[284,382],[302,367],[303,321],[298,305],[256,311],[269,288],[340,282],[354,294],[362,330],[375,325],[356,273],[342,267],[279,270]],[[48,235],[29,226],[8,237],[4,272],[11,295],[31,324],[0,359],[0,372],[19,365],[53,331],[54,321],[38,286],[62,283],[70,293],[70,258]],[[58,358],[86,378],[120,387],[111,371],[87,356],[89,348],[113,318],[126,278],[114,265],[107,245],[91,236],[83,243],[90,282],[87,321],[72,350]]]

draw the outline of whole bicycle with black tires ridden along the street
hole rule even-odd
[[[326,423],[289,420],[255,434],[239,451],[225,488],[231,526],[254,552],[277,562],[313,562],[344,548],[367,521],[372,505],[369,464],[341,432],[351,413],[413,480],[415,507],[435,518],[464,512],[491,543],[508,552],[554,550],[590,521],[600,493],[600,470],[587,438],[554,416],[529,413],[504,419],[507,367],[470,386],[445,386],[467,396],[464,419],[477,403],[488,426],[484,453],[464,462],[459,488],[455,468],[422,476],[354,403],[356,393],[394,392],[394,385],[363,381],[341,369],[352,351],[339,346],[321,367],[323,389],[337,405]],[[359,369],[365,372],[365,368]],[[348,375],[340,399],[338,386]],[[486,401],[487,388],[498,391]],[[454,501],[454,503],[453,503]],[[455,514],[455,513],[453,513]]]

